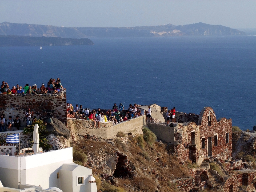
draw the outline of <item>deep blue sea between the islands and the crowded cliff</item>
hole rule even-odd
[[[0,47],[1,79],[60,78],[67,102],[112,108],[147,105],[199,114],[205,106],[233,125],[256,125],[256,37],[92,39],[93,46]]]

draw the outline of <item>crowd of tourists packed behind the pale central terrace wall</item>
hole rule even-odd
[[[94,122],[95,127],[99,127],[100,122],[112,121],[113,125],[122,122],[130,121],[130,119],[142,116],[141,110],[137,110],[137,104],[129,105],[129,108],[125,110],[122,103],[119,107],[114,103],[112,110],[104,110],[104,112],[99,108],[98,110],[83,109],[83,106],[77,104],[75,108],[71,103],[67,103],[67,117],[85,119]]]

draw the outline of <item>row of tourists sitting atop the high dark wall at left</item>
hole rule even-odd
[[[47,94],[47,93],[58,93],[61,90],[66,90],[63,88],[61,84],[61,80],[57,78],[50,79],[47,83],[47,86],[45,86],[44,83],[42,83],[41,87],[38,88],[36,84],[30,86],[29,84],[26,84],[23,88],[22,86],[19,86],[18,84],[16,86],[13,86],[12,89],[10,89],[7,82],[2,82],[0,92],[2,94],[17,94],[17,95],[23,95],[23,94]]]

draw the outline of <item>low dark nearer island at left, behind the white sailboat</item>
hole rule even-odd
[[[0,47],[59,45],[94,45],[94,43],[87,38],[73,39],[62,37],[26,37],[17,35],[0,35]]]

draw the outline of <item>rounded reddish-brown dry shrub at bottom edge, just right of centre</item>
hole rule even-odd
[[[155,192],[156,183],[153,179],[148,177],[135,177],[133,179],[133,185],[136,186],[139,191]]]

